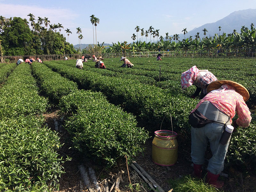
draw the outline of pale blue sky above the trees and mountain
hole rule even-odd
[[[72,34],[68,42],[73,45],[79,43],[78,27],[82,30],[82,44],[93,44],[93,40],[96,44],[95,26],[90,21],[92,14],[100,19],[96,26],[97,42],[112,44],[118,41],[131,43],[132,34],[137,36],[136,26],[144,28],[144,31],[150,26],[159,29],[159,37],[165,37],[167,32],[173,36],[182,33],[184,28],[190,31],[245,9],[256,9],[256,0],[0,0],[0,15],[27,20],[29,13],[35,19],[47,17],[50,24],[62,24],[64,28],[60,33],[66,38],[65,30],[70,29]],[[145,35],[141,37],[140,33],[138,40],[146,41]],[[147,38],[149,41],[150,35]]]

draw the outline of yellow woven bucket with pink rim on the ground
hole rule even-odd
[[[152,161],[162,166],[171,166],[178,159],[177,133],[169,130],[155,131],[152,141]]]

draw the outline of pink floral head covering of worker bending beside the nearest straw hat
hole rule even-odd
[[[181,88],[186,89],[196,80],[199,69],[194,65],[187,71],[181,73]]]

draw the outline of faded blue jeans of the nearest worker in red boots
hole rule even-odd
[[[228,145],[221,145],[220,138],[224,125],[209,123],[201,128],[191,127],[191,158],[194,164],[204,164],[204,154],[208,141],[212,151],[207,170],[218,175],[224,169],[224,160],[228,151]]]

